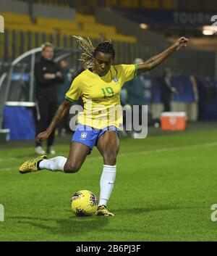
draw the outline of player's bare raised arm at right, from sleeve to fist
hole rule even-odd
[[[182,46],[187,46],[189,39],[184,36],[177,39],[174,44],[172,44],[168,49],[162,51],[161,54],[151,57],[146,62],[137,65],[137,74],[142,72],[152,70],[154,67],[158,66],[164,59],[169,57],[174,51],[178,51]]]

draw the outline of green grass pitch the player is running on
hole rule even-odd
[[[33,147],[0,151],[0,241],[216,241],[217,130],[161,133],[122,139],[108,205],[114,218],[77,218],[72,194],[99,194],[102,159],[97,150],[75,174],[20,175]],[[56,151],[67,156],[69,146]]]

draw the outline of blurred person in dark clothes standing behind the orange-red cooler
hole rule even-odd
[[[161,102],[163,103],[163,112],[171,111],[171,95],[176,94],[176,88],[171,85],[171,70],[166,68],[163,77],[159,80],[161,83]]]

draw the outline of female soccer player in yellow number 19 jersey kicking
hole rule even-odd
[[[100,200],[96,215],[114,216],[106,208],[116,178],[116,156],[119,151],[117,128],[122,123],[122,117],[111,118],[111,106],[120,105],[120,91],[128,80],[137,74],[158,66],[171,53],[187,46],[188,39],[181,37],[168,49],[146,62],[138,65],[112,65],[115,58],[114,45],[111,41],[103,41],[95,48],[90,40],[77,36],[82,50],[84,71],[73,80],[59,106],[50,125],[37,136],[42,142],[48,139],[51,132],[62,117],[67,114],[73,102],[82,97],[84,112],[77,117],[78,125],[69,149],[69,157],[54,157],[47,159],[46,155],[27,161],[20,166],[20,173],[30,173],[48,169],[64,173],[76,173],[80,170],[85,158],[97,146],[103,157],[103,173],[100,181]]]

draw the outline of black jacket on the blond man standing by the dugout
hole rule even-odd
[[[46,80],[43,78],[45,73],[56,74],[56,72],[61,71],[61,68],[54,61],[49,61],[41,57],[40,62],[35,63],[35,88],[36,96],[47,95],[56,96],[56,84],[63,83],[64,78],[54,78],[51,80]]]

